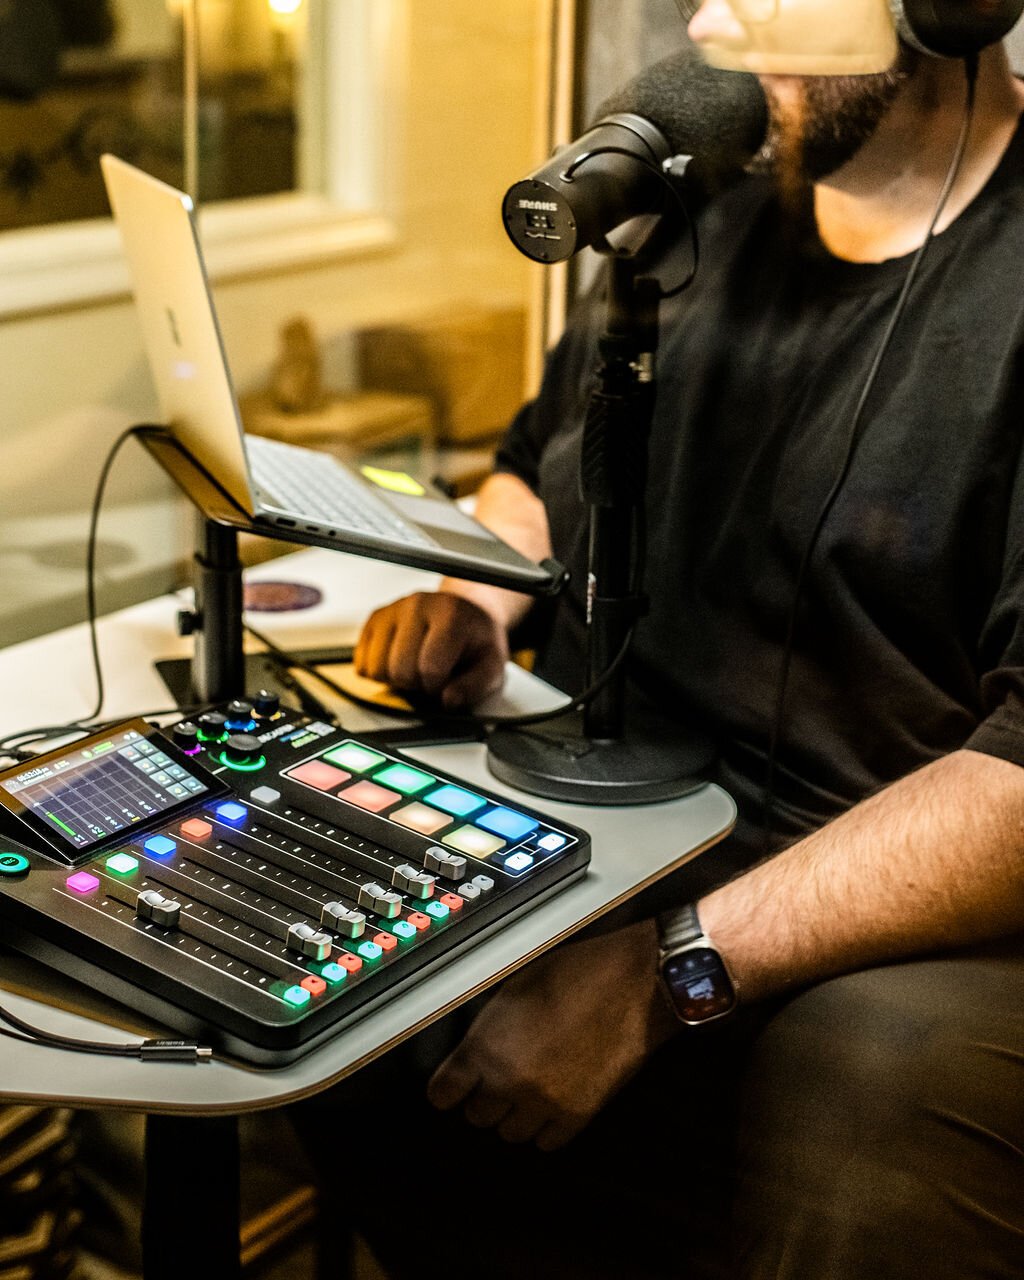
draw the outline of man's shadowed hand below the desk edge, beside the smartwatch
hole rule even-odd
[[[652,920],[561,947],[515,974],[434,1073],[428,1097],[462,1105],[507,1142],[561,1147],[678,1023],[657,989]]]

